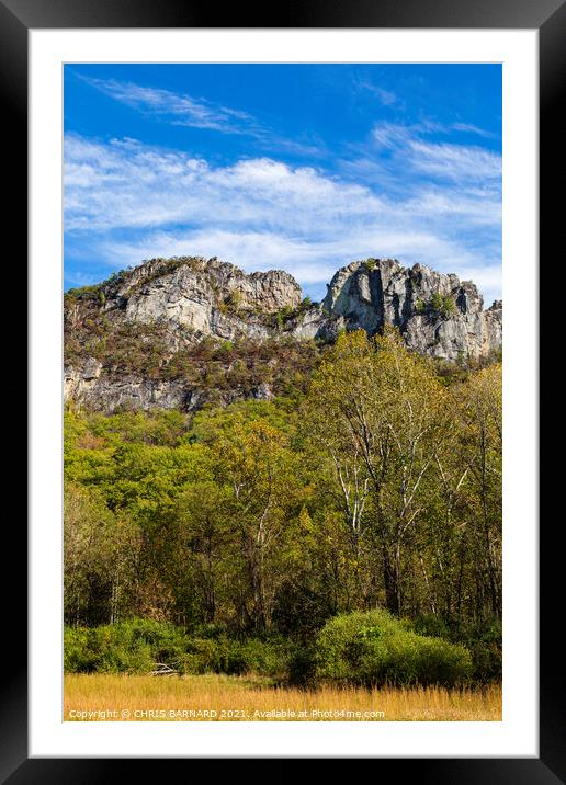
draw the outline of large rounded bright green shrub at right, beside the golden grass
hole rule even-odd
[[[316,675],[343,684],[443,684],[466,681],[466,648],[422,636],[385,611],[358,612],[328,622],[317,638]]]

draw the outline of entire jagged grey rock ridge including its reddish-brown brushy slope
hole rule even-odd
[[[247,275],[216,258],[151,260],[65,300],[65,399],[104,411],[269,399],[297,363],[305,373],[314,365],[318,350],[307,352],[307,339],[331,342],[342,329],[374,334],[393,325],[410,349],[448,361],[480,360],[501,346],[500,300],[484,310],[472,282],[390,259],[342,268],[320,304],[302,302],[288,273]],[[203,383],[207,341],[249,344],[237,357],[231,350],[213,356],[224,374],[216,385]],[[258,353],[262,344],[269,360]]]

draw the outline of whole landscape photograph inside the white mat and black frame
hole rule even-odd
[[[64,723],[503,719],[502,66],[376,58],[63,66]]]

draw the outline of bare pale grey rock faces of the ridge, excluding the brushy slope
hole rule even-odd
[[[385,325],[397,327],[409,349],[451,362],[488,357],[502,341],[501,300],[484,310],[471,281],[421,264],[404,268],[393,259],[341,268],[319,304],[303,300],[301,286],[284,271],[246,274],[216,258],[151,260],[93,291],[88,300],[66,298],[67,334],[79,323],[84,330],[88,307],[90,318],[94,309],[106,322],[134,330],[136,325],[140,330],[159,327],[171,354],[204,339],[331,341],[343,329],[373,335]],[[206,402],[182,379],[116,375],[90,356],[87,345],[65,368],[68,401],[105,411],[190,410]],[[230,402],[234,395],[228,391],[224,401]],[[260,385],[251,395],[269,399],[271,391]]]

